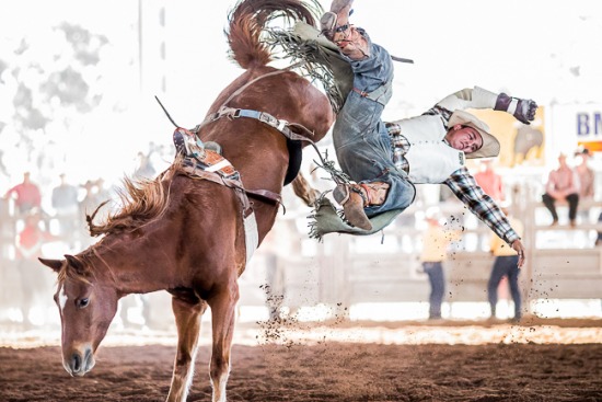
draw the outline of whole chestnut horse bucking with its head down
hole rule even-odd
[[[322,139],[334,120],[328,99],[296,72],[267,66],[271,50],[259,41],[273,18],[285,15],[289,22],[314,25],[316,12],[320,9],[312,11],[299,0],[239,2],[229,15],[227,36],[232,58],[245,72],[219,94],[208,116],[227,102],[232,108],[268,113],[279,125],[291,122],[290,130],[313,133],[313,141]],[[244,188],[281,192],[291,147],[277,128],[231,116],[206,120],[198,135],[221,146]],[[97,243],[65,260],[40,260],[58,273],[55,301],[61,318],[63,366],[71,376],[92,369],[119,298],[167,290],[178,336],[167,401],[186,400],[207,307],[212,322],[212,400],[225,401],[238,277],[246,264],[240,196],[229,186],[192,177],[177,163],[154,181],[125,183],[127,203],[120,211],[99,225],[93,223],[94,215],[88,217],[91,233],[103,236]],[[279,206],[255,193],[248,197],[261,243]]]

